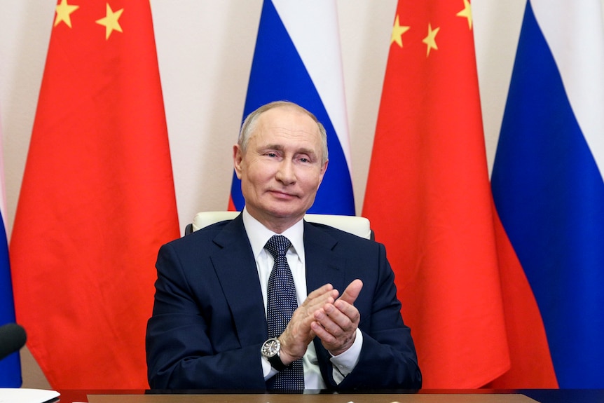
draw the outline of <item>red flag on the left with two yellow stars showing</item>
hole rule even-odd
[[[10,250],[53,388],[148,388],[153,266],[178,236],[149,0],[61,0]]]

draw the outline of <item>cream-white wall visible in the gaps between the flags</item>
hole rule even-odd
[[[55,4],[0,0],[0,122],[9,234]],[[472,4],[491,166],[525,1]],[[242,118],[261,5],[262,0],[151,0],[181,228],[199,210],[226,209],[231,146]],[[338,0],[357,213],[362,209],[396,5],[396,0]],[[47,385],[27,352],[24,381],[27,387]]]

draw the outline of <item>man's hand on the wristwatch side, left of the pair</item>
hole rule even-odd
[[[315,332],[310,325],[315,321],[315,313],[326,305],[333,305],[338,291],[331,284],[323,285],[308,294],[306,300],[291,315],[284,332],[278,337],[281,343],[279,357],[283,364],[289,365],[306,353],[306,348]]]

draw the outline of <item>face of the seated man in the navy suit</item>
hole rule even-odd
[[[245,153],[233,147],[237,177],[249,214],[275,232],[313,205],[327,169],[317,123],[292,107],[263,112]]]

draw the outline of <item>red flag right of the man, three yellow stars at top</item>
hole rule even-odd
[[[399,1],[363,215],[385,243],[425,388],[509,368],[467,0]]]

